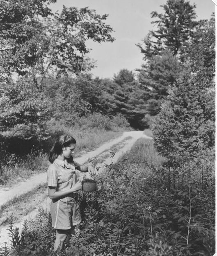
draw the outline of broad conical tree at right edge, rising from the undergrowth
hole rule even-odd
[[[171,161],[196,158],[215,144],[214,24],[212,16],[196,26],[183,58],[185,66],[155,122],[155,146]]]

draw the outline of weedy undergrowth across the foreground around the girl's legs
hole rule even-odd
[[[81,233],[62,256],[213,255],[213,155],[203,156],[201,151],[199,162],[177,169],[171,185],[162,163],[151,140],[140,139],[118,164],[107,166],[97,179],[98,190],[80,194]],[[198,168],[203,169],[203,181]],[[50,250],[54,239],[50,216],[39,213],[43,224],[39,217],[28,224],[27,245],[21,242],[22,234],[20,238],[14,235],[12,255],[55,255]],[[7,255],[4,250],[2,256]]]

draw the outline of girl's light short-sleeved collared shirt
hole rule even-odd
[[[78,181],[75,173],[75,165],[67,160],[55,159],[48,167],[47,182],[49,187],[57,187],[56,191],[65,191],[70,189]],[[77,197],[77,193],[68,194],[59,200],[63,202],[71,201]]]

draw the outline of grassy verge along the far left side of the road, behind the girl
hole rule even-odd
[[[0,136],[0,185],[11,185],[29,178],[32,174],[46,171],[49,166],[48,152],[59,135],[71,134],[76,139],[75,157],[78,157],[82,152],[96,149],[126,130],[126,127],[120,127],[118,124],[111,126],[108,120],[102,119],[101,116],[98,119],[97,117],[93,120],[89,118],[86,124],[82,119],[80,125],[73,127],[50,122],[50,139],[43,142],[35,141],[33,138],[22,140],[19,137]],[[103,121],[106,126],[103,126]],[[119,125],[121,124],[124,125]]]

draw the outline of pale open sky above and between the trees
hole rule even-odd
[[[155,29],[151,24],[151,11],[163,13],[162,7],[167,0],[57,0],[50,5],[53,11],[66,7],[89,7],[97,14],[109,14],[105,23],[114,32],[114,42],[97,43],[87,41],[91,49],[88,56],[96,61],[96,68],[91,73],[94,77],[113,78],[121,69],[135,71],[143,63],[142,53],[136,46],[149,30]],[[196,4],[197,19],[209,19],[215,12],[212,0],[190,0]]]

